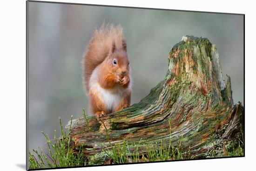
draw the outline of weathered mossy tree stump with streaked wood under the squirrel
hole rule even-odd
[[[213,141],[223,146],[240,132],[243,106],[233,105],[230,77],[225,83],[218,51],[207,38],[183,37],[169,53],[163,81],[139,103],[101,117],[102,122],[95,116],[88,117],[88,124],[84,117],[73,120],[74,150],[83,145],[89,156],[110,148],[105,127],[111,144],[140,141],[140,152],[148,143],[168,144],[169,119],[172,143],[182,136],[182,149],[194,154],[209,151]]]

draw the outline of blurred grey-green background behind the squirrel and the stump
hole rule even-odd
[[[132,103],[148,95],[168,70],[168,54],[184,35],[209,38],[222,74],[231,76],[234,103],[243,103],[243,16],[28,2],[29,150],[45,147],[73,118],[88,113],[81,59],[95,27],[121,24],[134,80]]]

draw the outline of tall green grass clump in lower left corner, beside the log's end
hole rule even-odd
[[[82,146],[80,146],[79,152],[77,154],[73,153],[70,144],[71,127],[69,127],[68,133],[66,133],[66,131],[63,130],[61,118],[60,125],[61,136],[57,139],[56,130],[54,130],[53,139],[50,139],[46,133],[41,132],[46,139],[47,152],[43,152],[43,150],[40,147],[38,147],[39,151],[33,150],[33,152],[29,152],[29,169],[71,167],[84,165],[86,158],[82,155]]]

